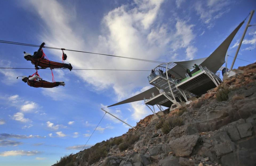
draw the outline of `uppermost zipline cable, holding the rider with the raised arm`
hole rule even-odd
[[[15,45],[22,45],[22,46],[31,46],[31,47],[40,47],[40,46],[38,46],[38,45],[27,44],[27,43],[11,42],[11,41],[5,41],[5,40],[0,40],[0,43],[15,44]],[[56,49],[56,50],[66,50],[66,51],[75,51],[75,52],[80,52],[80,53],[89,53],[89,54],[106,55],[106,56],[113,56],[113,57],[126,58],[126,59],[133,59],[133,60],[141,60],[141,61],[145,61],[145,62],[153,62],[153,63],[160,63],[160,64],[165,63],[165,62],[160,62],[160,61],[155,61],[155,60],[147,60],[147,59],[139,59],[139,58],[130,58],[130,57],[125,57],[125,56],[117,56],[117,55],[109,55],[109,54],[92,53],[92,52],[87,52],[87,51],[78,51],[78,50],[62,49],[62,48],[57,48],[57,47],[47,47],[47,46],[44,46],[43,48]]]

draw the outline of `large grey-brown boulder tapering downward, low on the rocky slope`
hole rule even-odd
[[[171,150],[177,157],[190,156],[199,139],[198,134],[182,136],[169,142]]]

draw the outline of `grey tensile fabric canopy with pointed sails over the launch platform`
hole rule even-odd
[[[177,65],[169,69],[168,73],[174,75],[175,78],[185,78],[186,68],[191,68],[192,66],[194,66],[194,64],[202,65],[202,67],[206,66],[210,71],[212,71],[213,73],[216,73],[218,69],[225,63],[225,55],[226,55],[227,49],[229,48],[231,41],[233,40],[235,34],[243,25],[243,23],[244,21],[240,23],[237,26],[237,28],[235,28],[235,30],[221,43],[221,45],[219,45],[219,47],[215,51],[213,51],[213,53],[207,58],[194,59],[194,60],[188,60],[188,61],[182,61],[182,62],[174,62]],[[117,106],[120,104],[125,104],[125,103],[130,103],[135,101],[141,101],[143,100],[144,97],[146,99],[150,99],[150,97],[152,96],[151,95],[152,92],[154,92],[155,95],[159,94],[159,91],[157,90],[157,88],[153,87],[129,99],[115,103],[108,107]]]

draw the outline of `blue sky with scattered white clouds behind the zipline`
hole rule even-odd
[[[207,57],[242,22],[256,2],[208,1],[0,1],[0,40],[61,47],[163,62]],[[246,20],[247,23],[247,20]],[[256,24],[255,14],[251,24]],[[245,24],[228,54],[235,55]],[[256,26],[249,27],[238,58],[255,62]],[[0,66],[33,68],[23,51],[0,43]],[[61,62],[60,50],[44,49]],[[66,51],[73,68],[150,70],[156,63]],[[228,67],[232,58],[228,58]],[[234,68],[249,64],[236,60]],[[225,65],[225,64],[224,64]],[[0,69],[0,165],[51,165],[76,153],[104,115],[100,108],[149,89],[150,72],[54,70],[65,87],[32,88],[16,79],[29,69]],[[49,70],[39,70],[51,80]],[[111,113],[135,126],[151,114],[143,102]],[[120,136],[128,127],[106,115],[88,142]]]

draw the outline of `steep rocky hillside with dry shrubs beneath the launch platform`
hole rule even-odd
[[[256,165],[256,63],[190,104],[97,143],[58,165]]]

